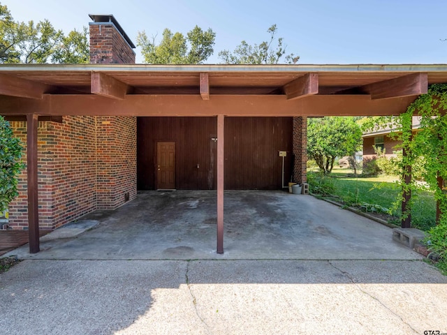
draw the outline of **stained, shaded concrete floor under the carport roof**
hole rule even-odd
[[[75,239],[41,239],[21,258],[100,260],[420,260],[391,229],[309,195],[226,191],[223,255],[216,253],[215,191],[145,192],[116,211],[67,228],[96,225]],[[63,230],[64,230],[63,229]],[[61,233],[61,232],[58,232]]]

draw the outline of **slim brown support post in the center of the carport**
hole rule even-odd
[[[217,253],[223,253],[223,115],[217,116]]]

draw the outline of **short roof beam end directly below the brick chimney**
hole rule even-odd
[[[91,73],[91,94],[123,100],[129,87],[110,75],[102,72]]]

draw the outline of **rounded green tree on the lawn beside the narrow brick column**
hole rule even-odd
[[[307,154],[325,174],[332,171],[337,156],[353,156],[361,143],[362,131],[353,117],[308,119]]]

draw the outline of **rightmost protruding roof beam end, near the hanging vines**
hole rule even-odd
[[[390,80],[374,82],[360,87],[360,91],[365,91],[375,99],[397,98],[402,96],[419,96],[428,91],[427,73],[412,73]]]

